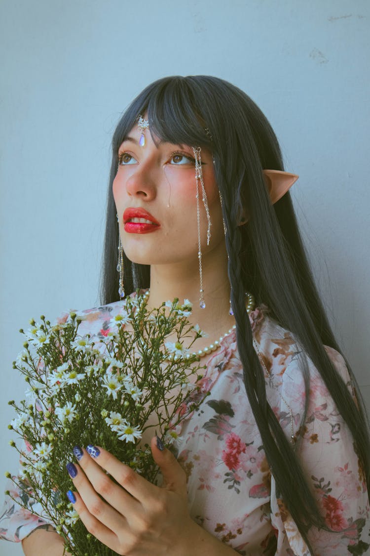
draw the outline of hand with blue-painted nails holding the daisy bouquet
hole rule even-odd
[[[80,449],[79,465],[68,469],[71,476],[77,471],[74,508],[89,533],[125,556],[191,554],[191,538],[199,525],[187,510],[186,475],[174,455],[161,451],[156,437],[151,440],[164,479],[158,487],[103,448],[95,448],[94,455],[93,448],[87,448],[92,455]]]

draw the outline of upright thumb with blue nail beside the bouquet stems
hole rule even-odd
[[[151,452],[163,475],[163,487],[186,495],[186,474],[174,454],[164,447],[159,436],[151,439]]]

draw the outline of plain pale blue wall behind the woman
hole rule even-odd
[[[0,21],[1,474],[18,469],[7,430],[7,401],[24,389],[18,329],[99,304],[110,138],[167,75],[222,77],[266,113],[300,175],[302,234],[370,406],[369,2],[1,0]]]

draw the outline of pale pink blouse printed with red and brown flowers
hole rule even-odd
[[[84,319],[80,330],[83,327],[85,333],[102,339],[110,319],[121,309],[118,301],[80,312]],[[331,532],[312,527],[310,552],[282,500],[276,498],[275,481],[245,392],[235,330],[220,342],[199,381],[210,395],[197,411],[185,411],[189,414],[174,428],[178,461],[187,476],[190,515],[239,554],[370,554],[369,500],[352,435],[308,358],[310,400],[302,423],[305,384],[300,353],[291,332],[268,312],[262,304],[249,315],[254,344],[265,364],[267,399],[288,439],[292,429],[296,435],[303,428],[298,456]],[[342,355],[331,347],[325,349],[353,394]],[[26,496],[14,490],[10,481],[7,489],[14,498]],[[29,504],[32,508],[32,499]],[[0,537],[19,542],[43,523],[6,497]]]

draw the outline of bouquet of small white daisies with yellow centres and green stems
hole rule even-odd
[[[96,342],[79,334],[82,319],[74,312],[55,325],[44,316],[40,324],[31,320],[31,329],[21,330],[24,350],[13,362],[29,389],[27,400],[9,401],[17,412],[9,428],[25,447],[11,441],[21,455],[21,471],[17,477],[6,475],[22,493],[22,507],[53,524],[65,549],[76,556],[113,552],[87,533],[65,496],[73,488],[65,471],[73,446],[96,439],[158,484],[159,469],[150,447],[140,443],[145,431],[154,427],[149,416],[155,415],[156,434],[174,450],[173,429],[208,394],[191,381],[192,375],[200,379],[204,366],[189,348],[204,334],[187,319],[190,302],[179,304],[175,299],[149,311],[146,296],[136,294],[124,301],[108,335]],[[192,339],[187,349],[185,337]],[[175,341],[166,341],[170,338]],[[184,404],[185,398],[189,404]]]

